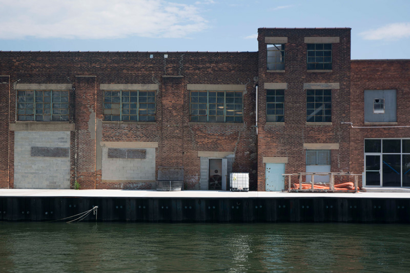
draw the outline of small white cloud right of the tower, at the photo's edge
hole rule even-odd
[[[400,39],[410,37],[410,23],[388,24],[359,33],[365,40]]]

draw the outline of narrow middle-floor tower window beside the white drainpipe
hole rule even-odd
[[[284,90],[266,91],[267,122],[284,122]]]

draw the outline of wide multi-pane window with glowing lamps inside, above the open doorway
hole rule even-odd
[[[240,91],[192,91],[190,107],[194,122],[243,122]]]

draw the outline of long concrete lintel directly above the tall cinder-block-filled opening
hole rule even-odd
[[[16,122],[10,123],[10,131],[37,131],[37,132],[52,132],[52,131],[74,131],[75,124],[69,122]]]

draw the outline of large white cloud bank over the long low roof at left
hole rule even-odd
[[[177,38],[208,27],[196,6],[164,0],[0,0],[0,4],[2,39]]]

